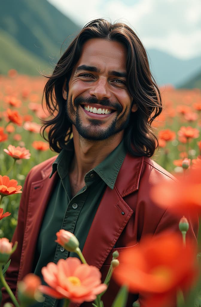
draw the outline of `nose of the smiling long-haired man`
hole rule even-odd
[[[92,87],[89,91],[91,96],[96,96],[97,99],[110,99],[111,92],[109,90],[108,81],[104,79],[99,79],[92,84]]]

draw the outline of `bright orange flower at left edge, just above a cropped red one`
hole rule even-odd
[[[20,191],[22,188],[21,185],[17,185],[17,180],[11,179],[8,176],[0,175],[0,195],[7,196],[17,193],[22,193]]]

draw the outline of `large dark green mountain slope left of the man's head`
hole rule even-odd
[[[38,75],[54,67],[79,27],[46,0],[6,0],[0,10],[0,73]],[[66,39],[67,38],[67,39]]]

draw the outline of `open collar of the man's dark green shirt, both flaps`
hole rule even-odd
[[[62,149],[62,151],[59,153],[58,157],[52,164],[52,172],[50,178],[56,170],[61,179],[66,177],[73,155],[74,144],[73,139],[71,139],[65,149]],[[106,185],[108,185],[108,187],[111,189],[114,188],[117,175],[119,173],[125,156],[126,150],[124,147],[124,142],[122,140],[121,143],[104,159],[104,161],[102,161],[99,165],[93,168],[93,171],[96,172],[99,177],[106,183]]]

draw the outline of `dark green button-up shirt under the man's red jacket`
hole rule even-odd
[[[42,281],[41,268],[48,262],[57,263],[60,258],[77,257],[75,253],[64,250],[55,242],[57,231],[65,229],[74,233],[82,251],[106,187],[114,188],[126,150],[122,141],[104,161],[85,174],[85,186],[71,197],[69,166],[73,156],[74,145],[71,140],[52,165],[50,177],[57,171],[59,179],[55,184],[41,225],[33,269]],[[45,284],[44,281],[42,283]],[[46,297],[44,306],[54,306],[54,303],[55,299]],[[34,306],[43,306],[43,303]]]

